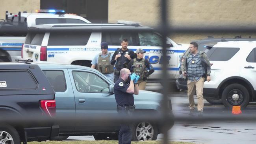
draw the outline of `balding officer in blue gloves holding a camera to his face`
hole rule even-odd
[[[134,110],[134,94],[139,94],[139,76],[131,75],[130,70],[123,68],[120,70],[120,78],[114,86],[115,100],[117,102],[117,112],[119,116],[125,118]],[[131,126],[122,123],[119,130],[119,144],[130,144],[132,140]]]

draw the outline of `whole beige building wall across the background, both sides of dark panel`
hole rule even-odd
[[[61,3],[61,0],[54,0]],[[83,0],[84,4],[91,4]],[[147,26],[159,26],[161,0],[102,0],[108,1],[108,22],[117,20],[130,20],[141,22]],[[74,2],[74,1],[73,1]],[[79,0],[76,0],[79,2]],[[248,26],[256,25],[255,7],[256,0],[167,0],[169,24],[187,26]],[[0,18],[5,18],[5,11],[34,12],[40,9],[43,0],[1,0]],[[57,3],[58,4],[58,3]],[[97,3],[95,11],[99,11]],[[85,17],[86,18],[86,17]],[[188,43],[194,39],[214,37],[256,37],[253,33],[175,33],[170,37],[181,43]]]

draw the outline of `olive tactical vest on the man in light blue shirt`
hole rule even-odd
[[[102,74],[110,74],[114,71],[114,66],[110,63],[111,53],[108,54],[108,57],[101,57],[99,54],[97,70]]]

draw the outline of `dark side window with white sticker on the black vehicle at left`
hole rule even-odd
[[[0,71],[0,90],[36,89],[37,83],[28,71]]]

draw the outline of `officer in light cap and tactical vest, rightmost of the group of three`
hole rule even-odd
[[[143,58],[144,53],[145,50],[138,48],[136,50],[137,58],[132,59],[127,65],[127,68],[129,70],[131,70],[132,65],[135,66],[134,68],[132,68],[133,70],[131,71],[135,72],[135,74],[140,76],[140,79],[138,81],[140,90],[145,90],[148,76],[155,71],[149,61]]]

